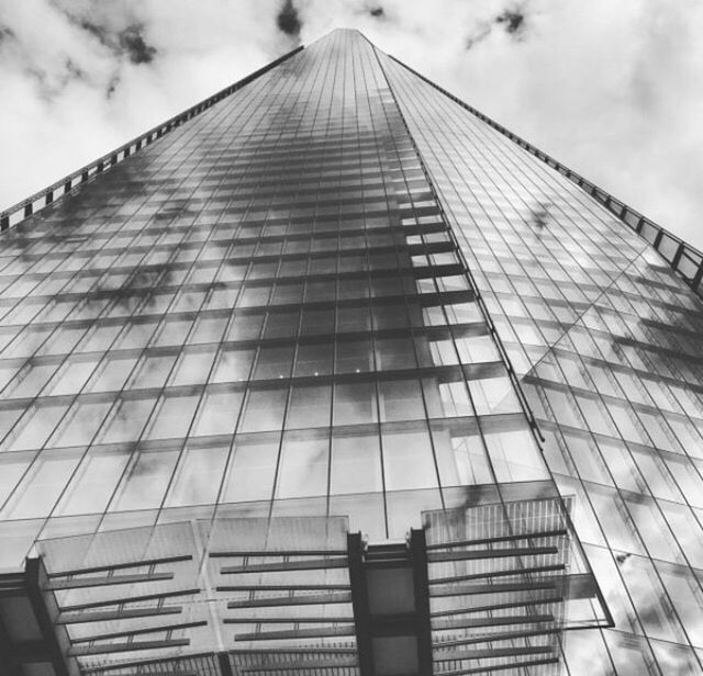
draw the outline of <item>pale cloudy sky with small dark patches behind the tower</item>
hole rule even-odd
[[[703,249],[700,0],[0,0],[0,209],[336,26]]]

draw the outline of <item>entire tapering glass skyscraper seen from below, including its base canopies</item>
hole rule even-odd
[[[8,674],[703,673],[701,255],[359,33],[0,223]]]

